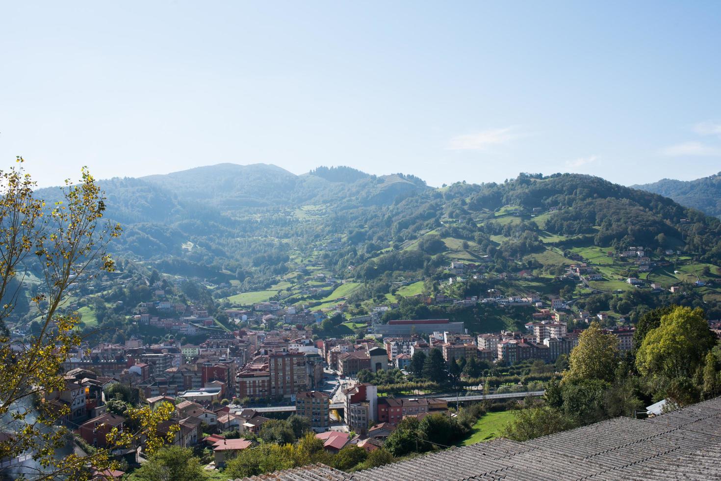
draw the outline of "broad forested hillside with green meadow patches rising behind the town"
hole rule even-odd
[[[386,319],[428,318],[448,312],[420,296],[494,292],[562,296],[611,319],[670,302],[721,317],[721,221],[599,177],[522,174],[435,189],[345,167],[298,176],[219,164],[101,184],[107,217],[124,229],[115,255],[203,281],[216,308],[276,299],[332,311],[347,302],[350,318],[391,304]],[[632,247],[643,257],[627,257]],[[478,274],[456,278],[451,262]],[[578,262],[596,275],[575,273]],[[516,314],[479,305],[450,317],[482,331],[516,328],[527,317]]]

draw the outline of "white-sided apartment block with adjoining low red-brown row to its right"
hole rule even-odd
[[[350,431],[365,436],[378,423],[397,425],[404,417],[423,418],[436,412],[448,412],[448,402],[433,398],[395,399],[378,397],[372,384],[357,383],[343,389],[344,421]]]

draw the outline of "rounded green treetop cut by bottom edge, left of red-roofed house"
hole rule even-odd
[[[159,449],[150,456],[148,462],[133,473],[141,481],[204,480],[200,459],[193,451],[180,446],[168,446]]]

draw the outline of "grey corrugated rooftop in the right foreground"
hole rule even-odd
[[[610,419],[523,443],[499,438],[352,474],[317,464],[250,479],[718,480],[721,397],[647,420]]]

